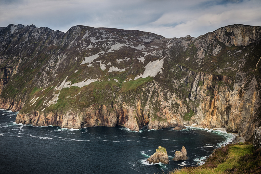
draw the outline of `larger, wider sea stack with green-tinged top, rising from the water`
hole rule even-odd
[[[147,159],[147,162],[149,164],[153,163],[164,163],[164,164],[169,164],[169,157],[167,154],[167,151],[164,147],[159,146],[158,149],[156,149],[156,152],[150,156],[150,158]]]

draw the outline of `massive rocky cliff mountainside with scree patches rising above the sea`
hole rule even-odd
[[[261,126],[261,27],[167,39],[115,28],[0,28],[0,107],[16,122],[69,128]]]

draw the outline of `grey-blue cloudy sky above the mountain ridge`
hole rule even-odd
[[[35,25],[66,32],[75,25],[198,37],[232,24],[261,26],[261,1],[0,0],[0,26]]]

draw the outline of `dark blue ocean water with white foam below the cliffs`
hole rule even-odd
[[[130,131],[127,128],[61,129],[16,124],[17,112],[0,110],[0,173],[165,173],[199,165],[198,159],[233,139],[225,132],[195,129]],[[165,147],[169,164],[147,164],[158,146]],[[172,161],[176,150],[188,159]],[[202,163],[201,163],[202,164]]]

